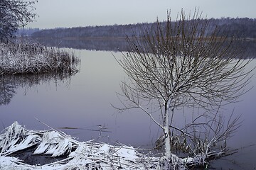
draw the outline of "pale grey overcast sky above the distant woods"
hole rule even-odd
[[[38,18],[32,28],[101,26],[154,22],[166,19],[166,11],[176,18],[195,7],[207,18],[256,18],[256,0],[38,0]]]

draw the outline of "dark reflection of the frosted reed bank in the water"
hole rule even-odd
[[[19,74],[19,75],[2,75],[0,79],[0,106],[8,105],[11,98],[16,94],[18,87],[23,87],[25,90],[31,87],[47,83],[50,81],[58,84],[59,81],[70,81],[70,74],[48,73],[48,74]]]

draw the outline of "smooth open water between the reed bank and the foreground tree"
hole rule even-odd
[[[156,138],[156,126],[142,113],[117,113],[111,104],[119,101],[116,91],[124,73],[114,60],[118,52],[75,50],[81,59],[80,72],[66,81],[41,82],[28,88],[18,86],[8,105],[0,106],[1,129],[18,121],[28,129],[63,130],[79,140],[97,139],[98,125],[104,126],[101,140],[127,145],[148,145]],[[152,132],[154,130],[154,132]],[[157,129],[158,130],[158,129]],[[105,137],[108,136],[108,137]]]

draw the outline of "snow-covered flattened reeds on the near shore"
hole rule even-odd
[[[33,155],[65,158],[35,165],[12,156],[28,148],[33,148]],[[184,169],[183,162],[188,160],[175,159],[176,165],[180,165],[178,169]],[[0,135],[0,169],[164,169],[163,166],[162,158],[140,154],[134,147],[93,140],[78,142],[57,130],[26,130],[17,122]]]

